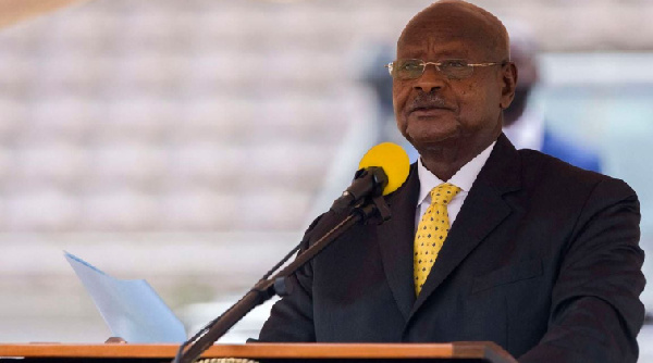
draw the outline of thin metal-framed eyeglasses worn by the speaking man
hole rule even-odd
[[[477,66],[504,65],[504,62],[491,63],[468,63],[466,60],[443,60],[440,62],[424,62],[422,60],[398,60],[387,63],[385,67],[390,75],[395,79],[416,79],[427,70],[427,64],[433,64],[435,70],[441,72],[447,78],[463,79],[473,74],[473,68]]]

